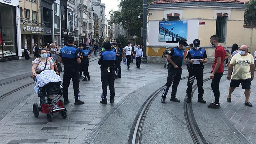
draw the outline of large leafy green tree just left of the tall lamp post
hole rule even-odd
[[[147,0],[148,4],[154,0]],[[143,0],[121,0],[119,11],[112,11],[114,16],[111,23],[116,23],[124,27],[130,35],[141,37],[141,27],[143,27],[143,15],[138,19],[140,13],[143,13]]]

